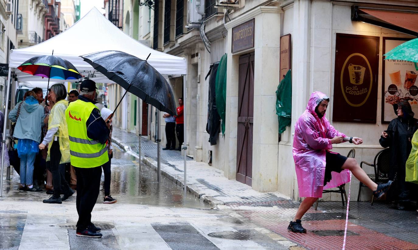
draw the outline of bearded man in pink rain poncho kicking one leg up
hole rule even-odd
[[[351,171],[362,183],[373,190],[376,198],[380,198],[390,187],[392,181],[377,185],[360,168],[354,158],[347,158],[329,150],[332,144],[349,141],[356,145],[363,143],[358,137],[348,137],[338,132],[324,117],[329,97],[321,92],[314,92],[308,101],[305,112],[295,125],[293,138],[293,159],[295,160],[296,176],[298,177],[299,196],[306,197],[294,221],[288,230],[306,233],[302,227],[303,214],[322,197],[322,190],[333,188],[350,181]]]

